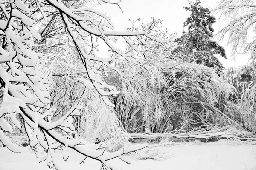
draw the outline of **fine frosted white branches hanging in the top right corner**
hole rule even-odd
[[[256,5],[251,0],[221,0],[215,9],[220,13],[220,19],[227,24],[218,32],[217,37],[223,40],[228,35],[228,45],[232,54],[247,54],[255,56]]]

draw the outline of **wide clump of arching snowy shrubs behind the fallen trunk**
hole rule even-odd
[[[211,68],[161,57],[140,63],[144,66],[120,71],[122,98],[116,114],[129,132],[237,125],[237,106],[229,100],[233,87]]]

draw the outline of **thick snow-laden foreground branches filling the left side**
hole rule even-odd
[[[102,2],[119,4],[119,2],[105,0],[97,1],[99,4]],[[34,44],[34,42],[41,43],[41,35],[37,33],[38,29],[41,28],[36,27],[35,24],[38,23],[38,18],[44,20],[42,23],[46,23],[46,18],[51,18],[49,25],[46,24],[46,29],[42,31],[42,35],[47,37],[52,34],[52,36],[55,36],[58,31],[51,33],[50,28],[52,28],[51,23],[54,23],[52,19],[58,18],[58,28],[65,28],[60,31],[60,34],[65,31],[67,33],[61,36],[70,39],[65,43],[71,42],[75,46],[86,70],[83,73],[76,73],[76,75],[82,77],[83,81],[89,80],[92,83],[93,90],[100,95],[101,100],[99,102],[103,100],[104,103],[111,106],[114,105],[105,96],[117,94],[119,91],[102,80],[100,75],[102,63],[107,64],[118,57],[132,55],[128,52],[122,52],[112,44],[112,42],[116,42],[116,37],[145,36],[156,42],[164,42],[145,32],[109,31],[113,29],[110,17],[92,8],[86,8],[86,4],[81,2],[80,5],[81,8],[77,8],[79,5],[75,6],[70,2],[64,3],[61,0],[32,0],[32,2],[0,0],[0,42],[2,44],[0,47],[0,89],[2,93],[0,95],[0,98],[2,98],[0,141],[10,150],[20,152],[20,148],[9,141],[8,134],[12,133],[16,127],[21,129],[20,122],[22,122],[29,138],[30,147],[37,157],[41,157],[41,153],[44,153],[40,162],[47,161],[50,168],[61,169],[61,166],[55,161],[54,150],[72,148],[80,153],[83,158],[90,157],[98,160],[104,170],[116,169],[109,160],[119,158],[130,163],[123,155],[143,149],[148,145],[131,146],[127,144],[122,149],[108,154],[105,153],[105,143],[90,144],[83,139],[79,139],[75,135],[72,116],[79,115],[83,108],[79,103],[81,103],[86,91],[86,85],[82,85],[78,90],[73,103],[70,102],[70,108],[65,111],[61,110],[61,117],[56,118],[53,113],[59,111],[59,106],[55,106],[54,101],[51,102],[46,72],[42,73],[38,66],[45,55],[35,52],[38,46],[43,45]],[[49,30],[50,32],[47,32]],[[111,58],[97,57],[99,40],[102,40],[111,48],[114,53]],[[81,42],[83,43],[81,44]],[[48,58],[47,61],[50,61],[50,59]],[[48,73],[52,74],[52,72]],[[73,73],[58,74],[67,77]],[[82,76],[83,74],[87,74],[87,76]],[[74,87],[75,84],[72,88]],[[102,113],[113,114],[113,111],[109,111],[106,106],[102,109]],[[18,120],[18,116],[21,116],[22,121]],[[116,117],[112,120],[116,121]],[[115,122],[114,128],[119,128],[118,122]],[[64,135],[58,133],[57,129],[61,129]],[[116,131],[116,133],[119,133],[118,130]],[[68,158],[64,155],[64,160]]]

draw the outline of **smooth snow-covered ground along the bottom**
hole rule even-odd
[[[0,147],[0,170],[49,170],[46,162],[38,163],[29,147],[23,153],[12,153]],[[77,153],[69,151],[71,157],[62,160],[63,153],[55,153],[63,170],[99,170],[101,165],[86,159],[79,164]],[[158,154],[157,156],[155,156]],[[152,157],[148,160],[137,158]],[[132,164],[119,159],[112,160],[120,170],[256,170],[256,145],[230,142],[222,139],[211,143],[169,143],[167,146],[152,146],[128,155]],[[164,160],[163,160],[164,159]]]

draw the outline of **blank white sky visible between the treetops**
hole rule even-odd
[[[203,7],[213,9],[219,0],[201,0]],[[183,23],[189,17],[190,12],[185,11],[182,7],[189,6],[187,0],[122,0],[119,3],[122,11],[118,6],[102,6],[103,11],[111,16],[111,21],[115,26],[115,31],[125,31],[125,28],[131,27],[128,19],[136,20],[138,17],[150,21],[151,17],[163,20],[163,28],[168,28],[171,32],[177,32],[180,35],[183,31]],[[213,25],[215,33],[223,27],[223,23],[217,22]],[[235,60],[230,57],[231,48],[226,47],[226,42],[218,42],[224,46],[227,53],[227,59],[218,57],[220,62],[226,67],[247,65],[250,56],[237,56]]]

